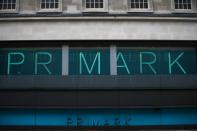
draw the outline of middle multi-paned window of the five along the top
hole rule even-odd
[[[86,0],[85,1],[86,8],[103,8],[104,2],[103,0]]]

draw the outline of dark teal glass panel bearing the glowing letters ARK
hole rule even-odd
[[[196,74],[194,48],[118,48],[118,75]]]

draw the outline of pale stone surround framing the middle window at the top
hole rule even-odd
[[[108,0],[103,0],[103,8],[86,8],[86,0],[82,0],[83,12],[108,12]]]

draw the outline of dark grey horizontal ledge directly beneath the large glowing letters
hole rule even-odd
[[[0,90],[197,89],[197,75],[0,76]]]

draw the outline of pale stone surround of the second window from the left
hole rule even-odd
[[[38,0],[37,3],[38,12],[62,12],[62,0],[59,0],[58,8],[41,8],[41,0]]]

